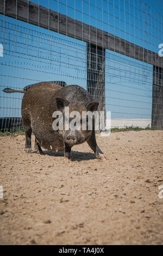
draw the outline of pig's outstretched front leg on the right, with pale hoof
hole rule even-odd
[[[94,151],[97,159],[108,160],[108,157],[104,155],[101,149],[98,148],[95,136],[95,130],[92,131],[91,137],[87,140],[87,144],[89,144],[90,148]]]

